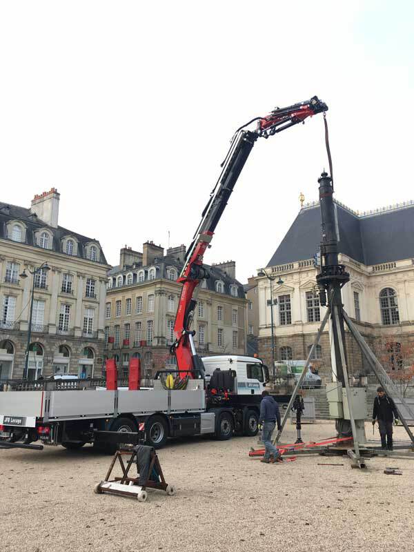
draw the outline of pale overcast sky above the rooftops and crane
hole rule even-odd
[[[0,4],[1,201],[61,193],[59,224],[188,245],[233,131],[313,95],[329,106],[336,197],[414,199],[410,1]],[[260,139],[205,262],[266,266],[327,167],[322,115]]]

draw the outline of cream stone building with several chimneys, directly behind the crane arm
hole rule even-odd
[[[106,358],[115,357],[119,372],[128,374],[131,357],[139,357],[146,379],[165,366],[174,366],[175,313],[181,293],[177,277],[185,246],[164,248],[152,242],[142,253],[123,248],[119,266],[108,273],[105,312]],[[244,355],[246,299],[235,278],[235,263],[208,267],[210,278],[199,286],[193,318],[195,345],[201,356]]]

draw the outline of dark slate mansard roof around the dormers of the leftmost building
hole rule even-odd
[[[67,230],[62,226],[53,228],[52,226],[48,226],[48,224],[46,224],[41,219],[39,219],[37,215],[30,213],[30,209],[19,207],[17,205],[6,204],[0,201],[0,238],[1,239],[9,239],[7,235],[6,225],[10,221],[14,221],[14,220],[21,221],[24,224],[24,226],[26,226],[26,239],[23,242],[26,245],[40,248],[40,246],[36,243],[34,233],[37,230],[41,230],[42,228],[45,228],[53,236],[53,243],[52,243],[52,249],[51,249],[52,251],[66,255],[65,251],[63,251],[62,249],[62,239],[63,237],[73,237],[79,244],[79,247],[77,248],[77,255],[68,255],[68,256],[75,256],[83,259],[88,259],[88,257],[86,257],[85,246],[86,244],[95,243],[97,244],[97,246],[99,246],[99,253],[100,253],[100,258],[98,258],[96,262],[98,262],[99,264],[108,264],[106,262],[105,255],[103,255],[101,244],[99,244],[99,241],[97,239],[92,239],[90,237],[83,236],[76,232],[72,232],[72,230]],[[14,242],[14,243],[19,243],[19,242]],[[90,259],[88,260],[90,261]]]

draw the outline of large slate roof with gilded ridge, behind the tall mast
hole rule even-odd
[[[366,266],[414,258],[414,201],[363,215],[335,201],[339,253]],[[319,203],[302,208],[267,266],[312,259],[319,251]]]

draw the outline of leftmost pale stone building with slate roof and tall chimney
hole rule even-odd
[[[0,203],[0,380],[23,377],[31,299],[28,378],[101,375],[109,266],[96,239],[59,226],[59,197]]]

